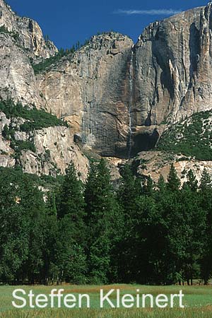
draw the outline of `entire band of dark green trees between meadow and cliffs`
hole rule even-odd
[[[124,165],[113,187],[105,160],[86,184],[73,163],[55,191],[27,175],[0,175],[2,283],[208,283],[212,273],[212,184],[192,170],[180,185],[135,177]]]

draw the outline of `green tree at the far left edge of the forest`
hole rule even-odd
[[[22,281],[21,269],[29,254],[29,223],[20,206],[19,187],[13,175],[1,170],[0,280],[9,284]]]

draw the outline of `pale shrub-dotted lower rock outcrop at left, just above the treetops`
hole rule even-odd
[[[0,112],[0,166],[14,167],[20,165],[23,172],[36,175],[60,175],[64,174],[66,167],[72,161],[78,170],[79,177],[84,181],[88,174],[88,158],[81,152],[76,143],[73,143],[73,134],[70,128],[65,126],[50,126],[48,128],[34,130],[26,133],[20,131],[20,124],[25,119],[7,119],[4,112]],[[4,136],[5,126],[13,128],[14,140],[18,142],[30,142],[34,151],[11,147],[11,141]],[[13,141],[14,143],[14,141]],[[20,146],[19,146],[20,147]]]

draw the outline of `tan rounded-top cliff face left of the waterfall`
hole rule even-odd
[[[102,155],[126,155],[129,135],[129,37],[107,33],[38,76],[46,108],[69,120]]]

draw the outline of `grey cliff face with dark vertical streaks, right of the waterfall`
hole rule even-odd
[[[211,3],[155,22],[136,44],[134,125],[211,109]]]

